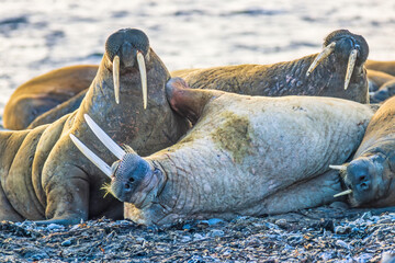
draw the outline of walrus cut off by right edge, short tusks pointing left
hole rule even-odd
[[[351,162],[331,165],[340,170],[353,207],[395,206],[395,98],[373,115]],[[341,163],[341,162],[340,162]]]

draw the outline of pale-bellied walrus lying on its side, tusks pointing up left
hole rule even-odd
[[[341,187],[328,164],[349,158],[373,114],[368,105],[334,98],[247,96],[185,85],[170,80],[168,100],[198,123],[167,149],[145,158],[132,148],[124,152],[86,116],[121,159],[110,168],[70,135],[111,175],[110,192],[136,222],[259,216],[331,202]]]

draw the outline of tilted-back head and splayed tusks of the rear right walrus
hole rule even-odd
[[[347,90],[354,67],[361,67],[368,59],[369,46],[366,41],[361,35],[350,33],[348,30],[338,30],[330,33],[324,39],[324,49],[317,55],[315,60],[309,66],[306,76],[308,77],[314,69],[330,54],[336,53],[341,60],[348,60],[345,90]]]

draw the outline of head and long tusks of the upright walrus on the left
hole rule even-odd
[[[146,108],[146,62],[149,61],[149,41],[147,35],[134,28],[115,32],[105,42],[104,58],[106,58],[106,65],[113,72],[115,102],[120,103],[120,75],[127,75],[127,72],[133,72],[137,69],[140,72],[144,108]]]

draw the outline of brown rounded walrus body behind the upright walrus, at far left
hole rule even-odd
[[[79,107],[87,90],[98,72],[98,66],[65,67],[38,76],[20,85],[4,107],[3,124],[8,129],[24,129],[37,116],[72,99],[67,111],[57,108],[58,119]],[[75,96],[80,99],[74,99]],[[52,123],[52,122],[45,122]]]

